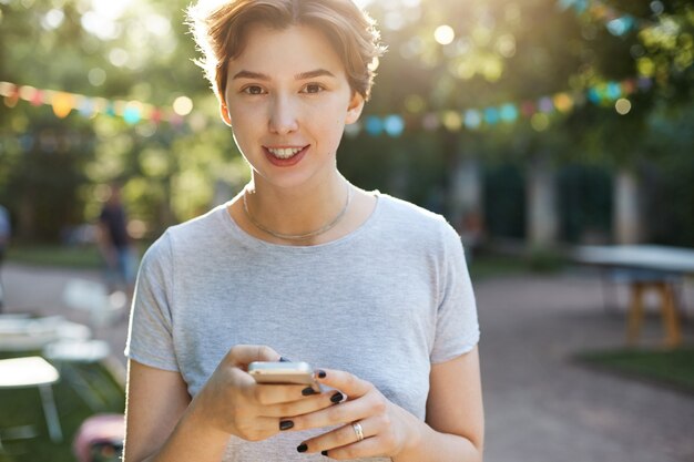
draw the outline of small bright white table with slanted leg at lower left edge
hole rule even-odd
[[[0,359],[0,389],[37,387],[51,441],[62,441],[62,429],[51,386],[60,379],[54,367],[41,357]]]

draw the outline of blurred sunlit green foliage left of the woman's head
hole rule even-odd
[[[0,1],[0,81],[167,110],[185,95],[197,113],[193,130],[0,104],[0,201],[19,239],[54,240],[93,220],[103,185],[114,179],[125,183],[131,216],[154,235],[208,205],[216,179],[241,181],[231,133],[217,123],[216,101],[192,62],[186,4]]]

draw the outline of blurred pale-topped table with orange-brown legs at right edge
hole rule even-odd
[[[656,245],[583,246],[575,249],[573,257],[582,264],[631,271],[627,342],[634,343],[639,338],[643,319],[642,297],[647,289],[661,294],[665,345],[676,347],[682,342],[673,280],[694,275],[694,249]]]

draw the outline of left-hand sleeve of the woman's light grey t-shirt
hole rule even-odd
[[[125,357],[159,369],[178,371],[173,348],[171,239],[164,234],[142,258],[130,317]]]

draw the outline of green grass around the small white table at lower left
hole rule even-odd
[[[7,434],[0,462],[74,462],[72,440],[81,423],[95,413],[123,412],[123,387],[103,365],[71,362],[57,365],[57,368],[61,380],[53,384],[53,394],[63,441],[51,442],[37,388],[0,390],[0,434]],[[8,429],[25,425],[33,428],[34,438],[10,439]]]

